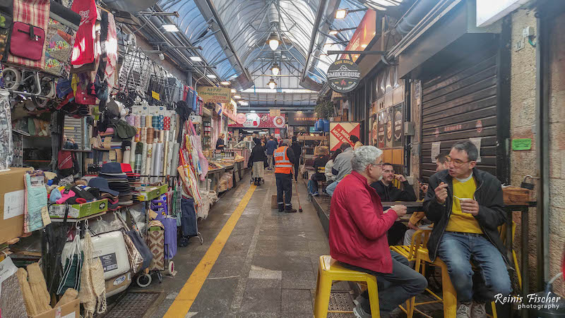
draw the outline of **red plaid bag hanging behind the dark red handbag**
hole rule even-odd
[[[49,21],[49,9],[49,0],[13,0],[14,24],[25,23],[27,25],[33,25],[34,30],[35,28],[42,30],[43,38],[41,42],[41,56],[39,57],[39,59],[37,59],[37,56],[33,57],[33,59],[25,59],[22,56],[8,54],[7,63],[25,66],[28,68],[35,68],[38,70],[43,69],[45,65],[45,51],[43,50],[43,43],[45,40],[44,32],[45,30],[47,30],[47,23]],[[14,35],[12,34],[11,37],[14,37]],[[12,51],[13,49],[11,48],[10,52]]]

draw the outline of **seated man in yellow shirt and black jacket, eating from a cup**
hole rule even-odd
[[[441,258],[457,291],[457,318],[487,317],[485,302],[509,295],[511,283],[506,249],[498,226],[506,223],[500,181],[475,168],[478,151],[472,142],[451,148],[448,170],[429,178],[424,212],[434,222],[429,258]],[[472,279],[470,259],[482,279]],[[475,286],[473,286],[475,285]]]

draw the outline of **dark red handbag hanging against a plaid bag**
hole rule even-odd
[[[14,22],[10,36],[10,54],[39,61],[43,54],[45,31],[41,27]]]

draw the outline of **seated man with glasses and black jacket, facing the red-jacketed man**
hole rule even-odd
[[[397,179],[403,183],[403,190],[396,188],[393,185],[393,180]],[[403,175],[395,175],[392,164],[383,164],[383,178],[380,181],[371,183],[371,187],[376,190],[376,193],[381,197],[383,202],[393,201],[416,201],[416,194],[412,185],[406,181]],[[408,228],[400,221],[395,222],[391,229],[388,231],[388,244],[399,244],[405,235]]]

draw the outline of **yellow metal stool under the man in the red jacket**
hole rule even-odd
[[[328,310],[330,304],[331,286],[334,281],[362,281],[367,283],[369,290],[369,304],[371,305],[371,316],[381,317],[379,313],[379,293],[376,287],[376,277],[342,267],[338,261],[329,255],[320,257],[318,269],[318,282],[316,283],[316,303],[314,305],[314,318],[326,318],[328,312],[350,313],[338,310]]]

